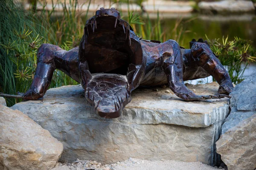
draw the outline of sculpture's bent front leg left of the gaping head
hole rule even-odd
[[[65,51],[56,45],[42,44],[38,48],[37,68],[32,85],[24,93],[23,99],[36,100],[44,96],[52,80],[53,72],[60,69],[68,76],[79,81],[78,71],[78,48]]]

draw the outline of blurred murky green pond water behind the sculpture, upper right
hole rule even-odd
[[[242,14],[242,15],[203,15],[203,14],[183,14],[163,16],[161,19],[161,26],[163,31],[172,32],[175,28],[175,23],[178,19],[182,18],[180,26],[186,33],[182,34],[180,39],[177,40],[180,45],[189,48],[189,42],[195,38],[205,39],[205,35],[209,39],[229,36],[229,40],[234,37],[253,41],[253,46],[256,48],[256,15]],[[168,34],[167,34],[168,35]],[[172,37],[168,37],[172,39]]]

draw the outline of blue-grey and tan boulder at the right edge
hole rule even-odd
[[[217,152],[229,170],[256,168],[256,76],[236,85],[231,112],[222,126]]]

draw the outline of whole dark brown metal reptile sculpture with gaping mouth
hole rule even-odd
[[[142,40],[114,8],[100,8],[87,20],[79,47],[65,51],[42,44],[30,89],[13,96],[26,100],[43,97],[55,69],[80,82],[87,102],[106,118],[119,117],[139,85],[168,83],[186,101],[219,98],[233,89],[230,76],[206,43],[192,42],[191,49],[183,49],[175,40]],[[198,96],[183,82],[209,75],[220,85],[217,96]]]

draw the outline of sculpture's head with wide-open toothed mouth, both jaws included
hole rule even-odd
[[[79,61],[87,63],[80,69],[87,69],[91,78],[83,85],[87,101],[99,116],[119,117],[143,77],[146,62],[139,38],[114,8],[100,8],[87,20]]]

